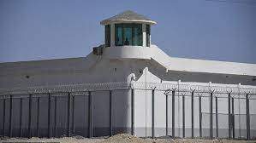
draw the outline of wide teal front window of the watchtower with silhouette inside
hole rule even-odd
[[[141,24],[116,24],[116,46],[134,45],[142,46]]]

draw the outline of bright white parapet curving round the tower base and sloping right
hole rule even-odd
[[[156,45],[151,45],[150,49],[140,46],[110,47],[104,49],[104,56],[110,59],[152,59],[164,66],[167,70],[178,72],[256,76],[256,64],[174,58],[165,54]]]

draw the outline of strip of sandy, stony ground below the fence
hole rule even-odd
[[[116,134],[109,138],[83,138],[80,136],[75,137],[63,137],[63,138],[31,138],[31,139],[21,139],[21,138],[11,138],[0,140],[2,143],[7,142],[60,142],[60,143],[256,143],[256,140],[201,140],[201,139],[149,139],[149,138],[138,138],[130,134]]]

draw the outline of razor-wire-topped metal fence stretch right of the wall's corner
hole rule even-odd
[[[134,89],[146,89],[152,90],[152,96],[155,96],[155,91],[163,91],[166,96],[166,100],[171,98],[171,119],[166,119],[166,135],[176,137],[176,96],[182,94],[182,137],[185,137],[185,110],[184,110],[184,99],[185,96],[191,97],[191,138],[194,138],[194,99],[199,98],[199,136],[200,138],[229,138],[229,139],[255,139],[255,113],[250,113],[250,100],[256,100],[256,89],[253,86],[241,85],[241,84],[216,84],[216,83],[181,83],[181,82],[170,82],[170,83],[134,83]],[[209,112],[202,112],[202,98],[209,99]],[[152,98],[154,99],[154,98]],[[218,99],[228,100],[228,113],[218,113]],[[213,102],[215,100],[215,103]],[[235,113],[234,100],[244,100],[246,102],[246,113]],[[152,101],[154,104],[154,101]],[[234,106],[235,104],[235,106]],[[168,101],[166,101],[165,109],[168,109]],[[213,109],[215,106],[215,109]],[[239,109],[240,110],[240,109]],[[154,109],[152,109],[154,111]],[[153,113],[152,113],[153,114]],[[168,117],[166,112],[166,117]],[[219,120],[221,118],[221,120]],[[242,118],[237,122],[238,118]],[[154,117],[152,118],[154,121]],[[168,122],[171,121],[171,134],[168,133],[170,130]],[[253,121],[253,122],[250,122]],[[219,125],[226,123],[228,129],[219,129]],[[242,127],[240,127],[242,123]],[[236,127],[239,124],[239,127]],[[207,128],[203,128],[207,126]],[[154,127],[154,125],[152,125]],[[251,129],[253,127],[253,129]],[[242,130],[242,131],[241,131]],[[221,134],[219,134],[221,131]],[[252,132],[251,132],[252,131]],[[241,133],[242,132],[242,133]],[[152,128],[152,137],[154,137],[154,129]]]

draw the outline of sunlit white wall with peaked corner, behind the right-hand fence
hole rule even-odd
[[[157,76],[148,72],[147,69],[144,70],[143,75],[138,79],[141,83],[160,83]],[[180,83],[173,81],[162,81],[162,83]],[[202,85],[207,85],[209,83],[200,83]],[[239,85],[237,85],[238,87]],[[153,87],[152,87],[153,88]],[[146,87],[145,87],[146,89]],[[147,88],[148,89],[148,88]],[[185,95],[185,137],[191,137],[191,93],[176,92],[175,96],[175,130],[176,137],[183,137],[182,132],[182,111],[183,102],[182,96]],[[193,98],[193,117],[194,117],[194,136],[199,137],[199,95],[201,97],[202,106],[202,131],[203,136],[210,136],[210,93],[205,94],[194,94]],[[235,94],[234,94],[235,95]],[[234,96],[232,95],[232,96]],[[216,121],[215,121],[215,111],[216,111],[216,97],[217,96],[217,112],[218,112],[218,132],[219,137],[228,137],[229,129],[229,118],[228,118],[228,94],[214,94],[212,100],[213,109],[213,135],[216,136]],[[242,98],[242,99],[239,99]],[[155,91],[155,136],[165,135],[165,123],[166,123],[166,97],[164,91]],[[254,100],[250,100],[250,114],[251,114],[251,129],[253,132],[252,136],[255,137],[255,115],[256,106],[253,106]],[[172,134],[172,97],[168,97],[168,126],[169,135]],[[235,137],[242,138],[246,137],[246,100],[245,94],[235,95]],[[151,136],[152,135],[152,89],[135,89],[135,134],[139,136]]]

